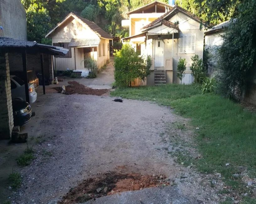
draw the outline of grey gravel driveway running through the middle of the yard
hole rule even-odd
[[[150,178],[158,175],[159,180],[159,175],[162,175],[161,179],[166,178],[168,184],[158,180],[152,180],[152,184],[174,187],[165,187],[163,191],[161,188],[152,188],[164,192],[163,196],[157,193],[163,198],[170,197],[175,190],[176,197],[172,197],[183,201],[179,203],[219,202],[218,191],[224,186],[218,180],[218,175],[202,175],[196,172],[193,165],[186,167],[182,162],[178,164],[176,161],[179,156],[174,153],[181,149],[179,144],[191,145],[192,132],[185,119],[174,115],[169,107],[160,107],[151,102],[125,99],[123,103],[119,103],[112,100],[108,96],[56,93],[39,95],[37,102],[32,104],[36,116],[23,128],[29,134],[28,145],[35,144],[37,158],[29,167],[15,169],[21,172],[23,184],[17,191],[6,187],[9,200],[16,204],[50,201],[52,204],[58,199],[62,199],[62,202],[68,199],[67,203],[73,203],[68,195],[74,192],[72,195],[77,202],[76,199],[81,194],[94,196],[98,193],[97,188],[100,187],[99,193],[102,193],[110,185],[94,185],[93,192],[84,186],[83,191],[81,185],[88,184],[88,179],[99,181],[102,174],[115,172],[121,178],[110,182],[114,185],[110,185],[111,188],[105,192],[118,192],[115,198],[122,197],[123,188],[126,188],[125,191],[138,190],[137,187],[132,188],[132,182],[139,183],[140,189],[151,187],[140,182],[141,176],[138,175],[148,177],[149,182]],[[193,148],[191,150],[193,157],[200,158]],[[6,161],[8,159],[7,156]],[[136,176],[127,176],[130,174]],[[122,178],[126,179],[125,183]],[[214,187],[212,181],[215,181]],[[119,186],[120,189],[118,182],[124,185]],[[89,196],[96,198],[96,201],[104,199],[101,195],[100,198]],[[105,199],[109,199],[109,196]],[[145,201],[136,200],[116,203],[143,202]],[[108,202],[99,200],[98,203]],[[167,200],[163,203],[167,203]]]

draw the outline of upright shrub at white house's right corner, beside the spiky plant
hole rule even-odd
[[[195,83],[200,83],[200,78],[205,76],[203,60],[199,59],[198,55],[191,57],[192,64],[190,70],[192,71],[192,76],[194,77]]]

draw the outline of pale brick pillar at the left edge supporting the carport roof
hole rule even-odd
[[[13,130],[13,106],[8,53],[0,53],[0,106],[0,139],[10,139]]]

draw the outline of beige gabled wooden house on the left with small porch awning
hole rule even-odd
[[[73,13],[67,15],[46,36],[52,45],[68,48],[65,56],[54,57],[56,70],[87,69],[85,57],[97,60],[101,68],[109,62],[109,40],[113,38],[94,22]]]

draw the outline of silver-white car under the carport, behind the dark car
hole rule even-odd
[[[10,75],[11,78],[11,93],[12,99],[21,99],[26,101],[25,93],[25,82],[17,76]],[[33,83],[28,83],[29,87],[29,103],[34,103],[37,98],[37,93],[35,92],[35,86]]]

